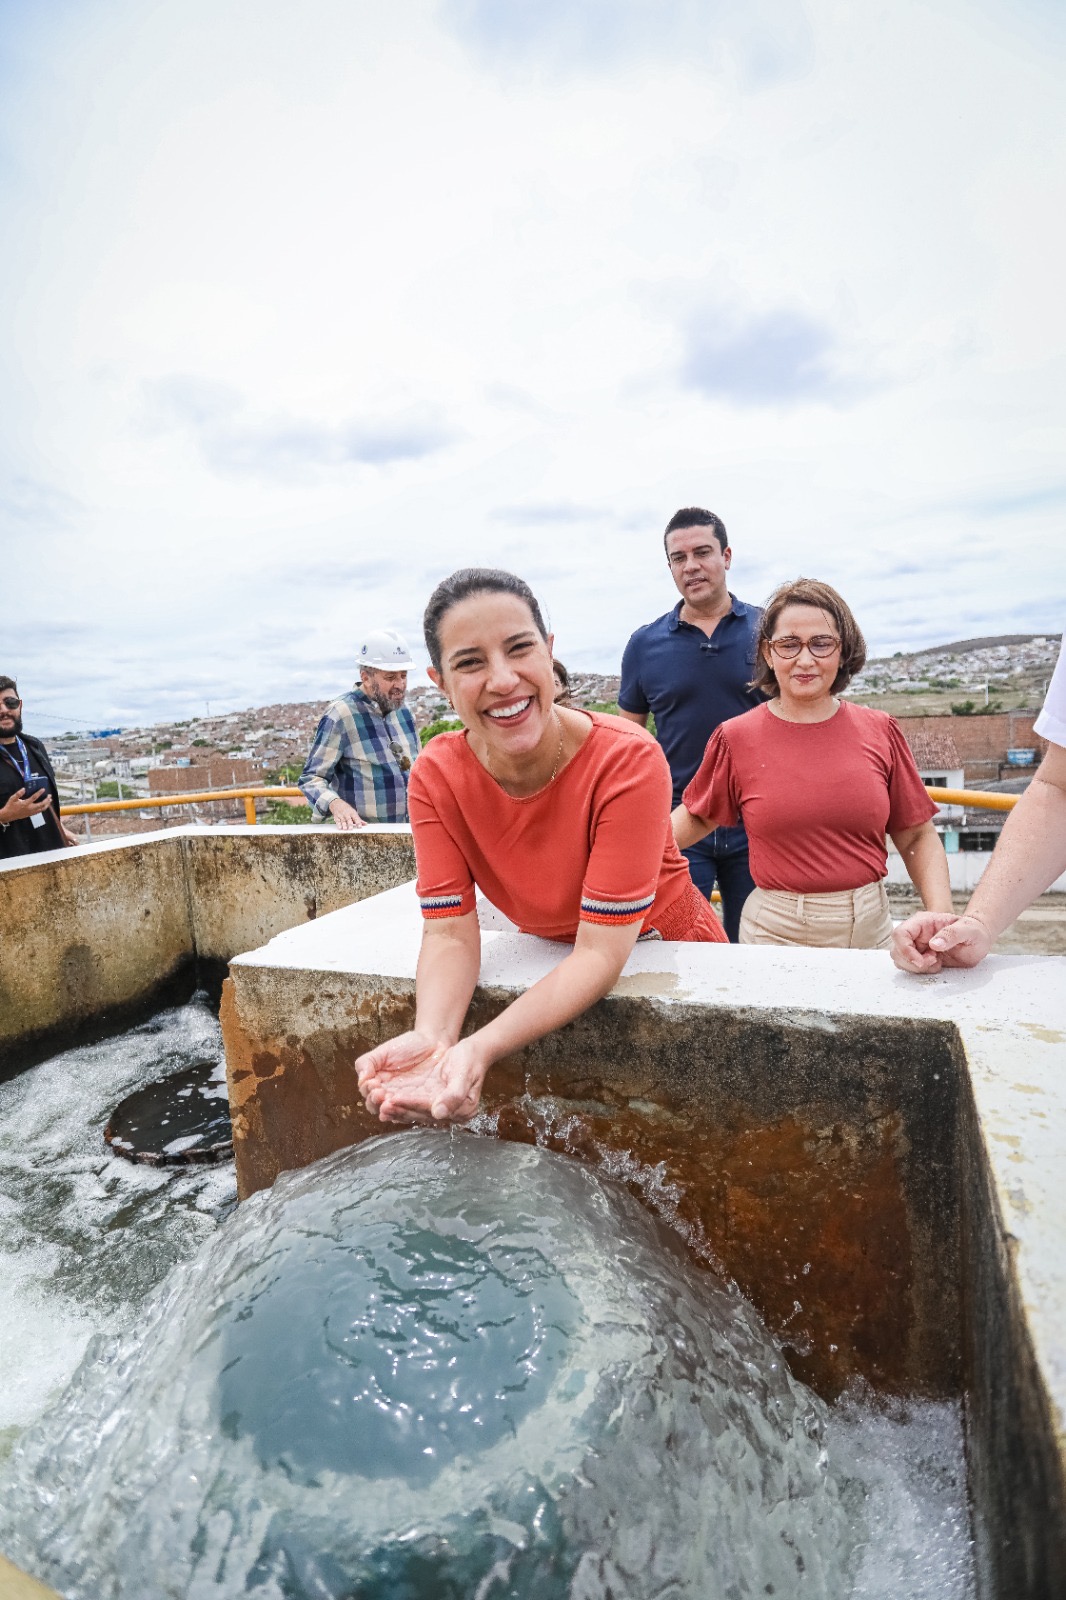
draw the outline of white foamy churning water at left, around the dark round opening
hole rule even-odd
[[[232,1210],[230,1165],[142,1166],[104,1144],[120,1099],[203,1059],[224,1077],[218,1021],[197,997],[0,1083],[0,1454],[90,1338],[123,1328]]]

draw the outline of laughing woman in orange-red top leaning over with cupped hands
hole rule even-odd
[[[639,938],[725,942],[671,834],[663,752],[618,717],[554,704],[552,638],[528,586],[455,573],[424,632],[464,730],[437,734],[411,768],[415,1029],[357,1062],[383,1122],[472,1117],[488,1067],[600,1000]],[[459,1040],[480,968],[475,886],[523,933],[573,949]]]

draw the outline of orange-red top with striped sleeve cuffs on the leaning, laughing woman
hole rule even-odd
[[[579,922],[640,923],[642,938],[725,939],[671,832],[671,774],[658,744],[616,717],[559,778],[515,800],[466,733],[439,733],[411,768],[408,808],[423,917],[474,910],[474,885],[523,933],[575,939]]]

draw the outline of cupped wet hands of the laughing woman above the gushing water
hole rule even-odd
[[[458,1045],[413,1029],[355,1062],[359,1093],[381,1122],[469,1122],[477,1112],[488,1062],[472,1038]]]

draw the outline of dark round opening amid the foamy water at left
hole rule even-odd
[[[229,1160],[234,1131],[224,1064],[197,1061],[128,1094],[110,1114],[104,1139],[126,1162],[152,1166]]]

